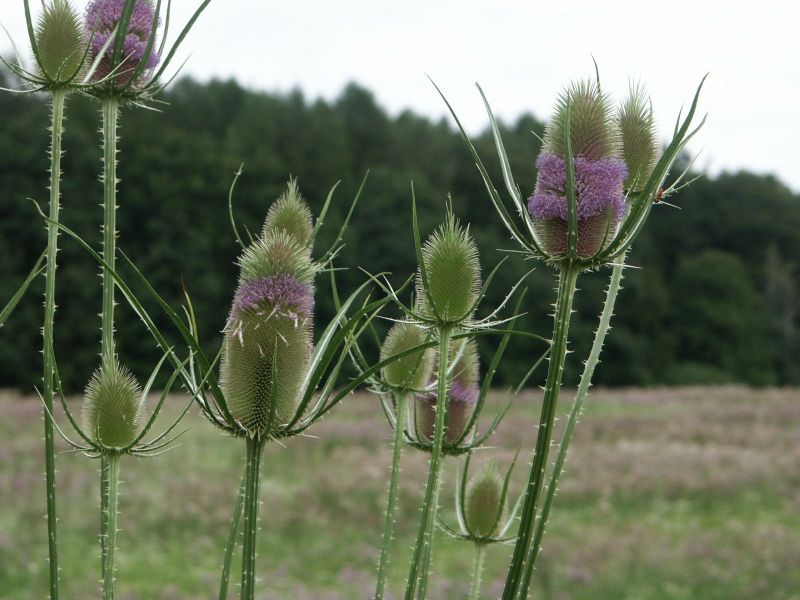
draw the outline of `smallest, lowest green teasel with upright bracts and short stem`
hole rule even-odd
[[[472,543],[472,577],[470,600],[478,600],[483,577],[483,560],[486,547],[491,544],[509,544],[516,536],[509,531],[517,518],[522,495],[511,511],[507,511],[508,488],[511,473],[517,458],[511,463],[505,475],[500,475],[494,462],[487,462],[472,478],[469,466],[473,453],[467,454],[463,471],[456,477],[455,513],[457,527],[443,518],[438,519],[439,527],[450,537]],[[508,514],[506,514],[508,513]]]

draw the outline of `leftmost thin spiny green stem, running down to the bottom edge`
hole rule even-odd
[[[50,556],[50,598],[58,598],[58,536],[56,532],[56,459],[53,443],[53,390],[55,356],[53,328],[56,313],[56,254],[58,254],[59,202],[61,195],[61,138],[64,133],[66,91],[53,91],[50,142],[50,221],[47,225],[47,269],[45,271],[44,325],[42,327],[44,376],[42,397],[44,415],[45,482],[47,486],[47,546]]]

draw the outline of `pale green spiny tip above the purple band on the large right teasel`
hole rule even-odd
[[[597,82],[578,81],[561,93],[555,114],[545,128],[543,152],[567,155],[567,115],[573,156],[591,160],[620,156],[620,132],[613,105]]]

